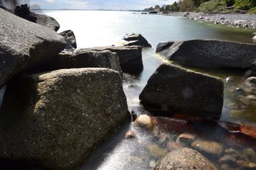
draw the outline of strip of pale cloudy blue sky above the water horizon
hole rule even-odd
[[[41,9],[145,9],[150,6],[172,4],[175,0],[21,0],[38,4]]]

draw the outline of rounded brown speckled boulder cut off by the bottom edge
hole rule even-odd
[[[217,170],[202,154],[194,149],[184,148],[171,151],[163,157],[154,170]]]

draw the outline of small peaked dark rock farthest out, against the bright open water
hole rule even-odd
[[[125,34],[123,40],[128,41],[125,46],[151,47],[151,44],[141,34]]]

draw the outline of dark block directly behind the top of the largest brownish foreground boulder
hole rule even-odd
[[[78,49],[74,53],[62,52],[47,66],[51,66],[49,70],[87,67],[108,68],[122,74],[118,54],[109,50],[93,51],[90,49]],[[44,68],[47,68],[47,66],[44,66]]]

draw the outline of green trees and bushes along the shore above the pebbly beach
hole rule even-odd
[[[171,11],[202,11],[219,12],[230,11],[232,9],[249,11],[256,13],[256,0],[179,0],[173,4],[163,6],[151,6],[144,11],[161,11],[168,13]]]

